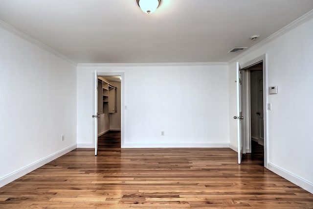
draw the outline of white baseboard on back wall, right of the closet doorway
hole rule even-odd
[[[124,143],[123,148],[229,148],[229,143]]]

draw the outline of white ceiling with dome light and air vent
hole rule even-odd
[[[0,0],[0,20],[75,63],[227,62],[313,9],[313,0]],[[260,35],[251,41],[251,35]]]

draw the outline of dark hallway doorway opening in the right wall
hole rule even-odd
[[[243,65],[243,162],[267,167],[266,54]]]

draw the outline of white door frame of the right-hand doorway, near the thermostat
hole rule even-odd
[[[267,74],[268,74],[268,64],[267,64],[267,54],[263,54],[255,59],[252,59],[250,61],[247,61],[246,63],[242,63],[240,64],[240,66],[242,67],[242,69],[247,69],[249,67],[252,67],[254,65],[256,65],[257,63],[263,62],[263,114],[264,114],[264,167],[268,168],[268,111],[267,111],[267,103],[268,103],[268,79],[267,79]],[[247,76],[248,77],[248,76]],[[246,82],[248,81],[248,82]],[[245,87],[244,89],[249,89],[246,88],[246,85],[249,85],[250,80],[249,79],[244,79],[245,82]],[[245,123],[244,123],[244,141],[246,142],[246,139],[248,137],[251,138],[251,131],[250,131],[250,124],[248,121],[250,121],[250,104],[247,102],[249,100],[249,95],[248,95],[249,91],[244,93],[244,103],[245,104],[245,110],[243,112],[246,113],[245,116]],[[249,136],[250,135],[250,136]],[[244,142],[244,146],[246,148],[246,144]]]

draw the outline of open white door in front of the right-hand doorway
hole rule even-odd
[[[238,164],[241,163],[243,156],[243,100],[242,100],[242,70],[237,62],[237,140],[238,140]]]

